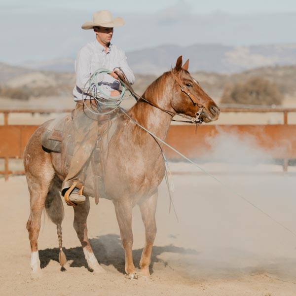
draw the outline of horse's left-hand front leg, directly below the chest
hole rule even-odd
[[[125,272],[131,279],[138,278],[133,262],[133,232],[132,232],[132,211],[133,206],[130,200],[113,202],[115,213],[120,230],[122,246],[125,252]]]

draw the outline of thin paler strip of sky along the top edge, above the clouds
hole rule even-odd
[[[176,3],[194,13],[222,10],[229,13],[296,11],[295,0],[1,0],[1,9],[19,10],[68,8],[81,10],[109,9],[114,12],[155,12]],[[103,7],[104,6],[104,7]]]

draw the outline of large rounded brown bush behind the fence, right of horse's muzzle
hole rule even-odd
[[[252,77],[245,83],[224,88],[222,104],[281,105],[283,95],[275,83],[261,77]]]

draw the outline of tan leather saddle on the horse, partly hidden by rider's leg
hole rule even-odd
[[[102,192],[105,191],[102,188],[104,187],[104,155],[108,151],[109,142],[117,125],[118,116],[114,116],[100,126],[97,141],[94,143],[91,155],[80,172],[80,176],[82,176],[80,178],[85,181],[87,169],[91,166],[96,204],[99,202],[99,197],[104,195],[104,192]],[[66,117],[60,116],[50,121],[47,129],[42,134],[41,145],[46,152],[61,153],[62,174],[66,176],[74,154],[74,148],[77,145],[73,116],[69,114]]]

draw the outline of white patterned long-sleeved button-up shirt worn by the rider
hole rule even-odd
[[[103,68],[112,71],[116,67],[121,68],[131,84],[135,82],[135,76],[127,64],[126,55],[122,49],[110,44],[106,53],[105,47],[97,39],[83,46],[75,60],[76,85],[73,89],[74,100],[82,100],[82,91],[87,92],[89,89],[87,81],[97,70]],[[119,81],[110,74],[98,74],[97,78],[100,89],[104,93],[96,90],[97,96],[107,99],[111,90],[119,89]],[[85,96],[85,94],[83,98],[91,99],[90,96]]]

